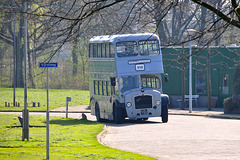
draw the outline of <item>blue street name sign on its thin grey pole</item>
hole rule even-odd
[[[47,68],[47,158],[49,159],[49,86],[48,86],[48,68],[56,68],[58,63],[39,63],[39,68]]]

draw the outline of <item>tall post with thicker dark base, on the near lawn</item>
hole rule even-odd
[[[29,113],[27,109],[27,2],[24,2],[24,110],[23,110],[23,141],[29,141]]]

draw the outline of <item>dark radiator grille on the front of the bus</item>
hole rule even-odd
[[[152,108],[152,96],[137,96],[135,97],[135,108]]]

